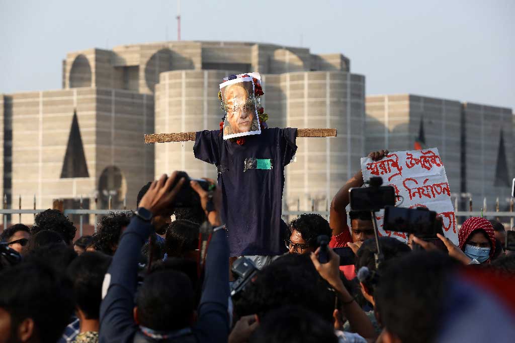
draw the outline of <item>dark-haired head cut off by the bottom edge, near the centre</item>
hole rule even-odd
[[[348,340],[346,340],[348,341]],[[327,321],[302,307],[289,305],[270,311],[260,320],[250,343],[338,343]]]

